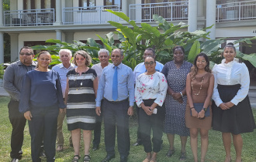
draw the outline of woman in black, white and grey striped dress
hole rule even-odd
[[[95,127],[95,96],[98,88],[97,74],[88,68],[92,62],[91,56],[85,51],[74,53],[74,65],[78,66],[67,73],[67,129],[71,130],[74,147],[74,158],[80,159],[80,138],[83,130],[85,143],[85,157],[83,161],[90,161],[90,144],[92,130]]]

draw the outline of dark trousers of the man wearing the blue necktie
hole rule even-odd
[[[128,157],[130,151],[129,116],[127,114],[129,101],[102,103],[103,120],[105,125],[105,144],[108,155],[115,154],[117,130],[117,144],[120,156]],[[117,129],[116,129],[117,128]]]

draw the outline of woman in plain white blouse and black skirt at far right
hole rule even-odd
[[[243,139],[240,133],[254,131],[255,123],[247,96],[250,77],[244,63],[234,61],[236,49],[227,45],[223,49],[225,59],[213,67],[213,130],[222,132],[226,150],[225,162],[231,160],[231,135],[236,150],[236,162],[241,161]]]

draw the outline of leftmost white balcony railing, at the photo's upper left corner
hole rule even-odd
[[[54,22],[54,8],[4,12],[5,26],[53,25]]]

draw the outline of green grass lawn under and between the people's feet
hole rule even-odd
[[[11,160],[9,157],[10,153],[10,135],[12,132],[12,126],[9,123],[9,113],[8,113],[8,108],[7,104],[9,103],[9,97],[8,96],[0,96],[0,161],[9,161]],[[254,119],[256,119],[256,109],[253,109],[254,112]],[[102,127],[104,129],[104,127]],[[24,143],[23,143],[23,157],[21,162],[27,162],[31,161],[31,156],[30,156],[30,136],[29,136],[29,128],[28,124],[26,124],[26,128],[24,131],[25,137],[24,137]],[[68,147],[68,137],[70,136],[70,133],[67,131],[67,123],[64,123],[64,151],[62,152],[57,152],[56,154],[56,161],[61,162],[61,161],[71,161],[73,157],[73,148]],[[243,154],[242,158],[244,162],[251,162],[251,161],[256,161],[256,130],[254,130],[253,133],[244,133],[242,134],[243,139],[244,139],[244,147],[243,147]],[[130,139],[131,143],[135,143],[137,139],[137,124],[135,120],[131,120],[130,122]],[[106,151],[105,151],[105,146],[104,146],[104,133],[102,131],[102,142],[100,143],[99,150],[92,151],[91,150],[91,157],[92,161],[101,161],[105,156],[106,156]],[[178,158],[180,156],[180,140],[178,136],[175,136],[175,154],[171,157],[165,157],[166,152],[168,151],[168,139],[166,135],[164,134],[163,136],[163,149],[159,152],[157,156],[158,161],[179,161]],[[193,161],[192,157],[192,151],[190,149],[190,140],[188,138],[188,143],[186,146],[187,150],[187,162]],[[138,147],[130,147],[130,156],[129,156],[129,161],[130,162],[137,162],[137,161],[142,161],[145,158],[145,153],[144,153],[144,147],[138,146]],[[82,149],[82,148],[81,148]],[[81,156],[84,154],[83,150],[81,150]],[[232,158],[235,159],[235,150],[234,147],[231,147],[231,154]],[[199,143],[199,156],[200,156],[200,143]],[[222,143],[222,137],[221,133],[210,130],[209,131],[209,149],[206,155],[206,161],[223,161],[225,157],[225,150],[223,147]],[[42,161],[47,161],[46,159],[43,159]],[[112,160],[112,162],[119,161],[119,153],[116,148],[116,158]]]

